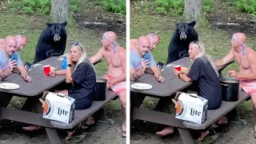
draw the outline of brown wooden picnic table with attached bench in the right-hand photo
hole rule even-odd
[[[218,58],[214,58],[214,61],[216,60],[218,60]],[[180,78],[174,76],[173,66],[181,64],[182,66],[190,67],[192,63],[188,58],[181,58],[178,61],[163,66],[162,75],[165,78],[165,82],[163,83],[157,82],[156,79],[150,74],[145,74],[142,76],[142,78],[138,79],[137,82],[150,83],[153,88],[150,90],[130,89],[136,94],[134,94],[134,97],[131,98],[131,117],[134,120],[140,119],[143,121],[178,127],[178,132],[181,135],[183,143],[194,143],[194,139],[191,137],[189,130],[206,129],[208,126],[216,122],[218,118],[221,118],[223,115],[228,114],[229,112],[231,114],[228,115],[233,116],[233,118],[231,117],[232,121],[244,124],[244,121],[238,117],[237,111],[235,110],[235,107],[238,106],[239,103],[245,101],[246,98],[249,98],[249,95],[242,90],[239,92],[239,100],[237,102],[222,102],[222,106],[218,110],[208,110],[208,118],[206,122],[202,123],[202,125],[198,125],[193,122],[185,122],[175,118],[174,103],[171,101],[171,99],[174,98],[176,92],[186,92],[189,90],[188,88],[192,86],[192,82],[183,82]],[[221,73],[225,67],[226,66],[218,67],[219,73]],[[136,82],[130,82],[130,85],[134,83]],[[154,110],[140,108],[146,96],[160,98],[157,105],[154,107]],[[167,114],[161,111],[165,106],[170,107],[172,114]]]

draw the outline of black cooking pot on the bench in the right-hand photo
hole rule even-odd
[[[220,78],[222,86],[222,100],[226,102],[238,101],[239,80],[237,78]]]

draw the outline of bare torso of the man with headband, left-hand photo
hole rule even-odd
[[[118,46],[117,53],[102,48],[102,55],[106,58],[106,63],[108,64],[107,75],[118,78],[124,73],[121,57],[126,55],[126,50],[122,46]]]

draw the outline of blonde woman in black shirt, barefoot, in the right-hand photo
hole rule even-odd
[[[198,95],[208,100],[208,110],[216,110],[222,104],[222,88],[218,78],[218,70],[208,54],[202,42],[191,42],[189,46],[190,58],[193,64],[188,74],[174,69],[174,75],[178,76],[185,82],[193,82],[198,88]],[[174,132],[173,126],[167,126],[157,134],[166,135]],[[206,135],[210,134],[209,130],[202,132],[202,141]]]

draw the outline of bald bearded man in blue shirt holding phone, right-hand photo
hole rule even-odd
[[[150,39],[146,36],[138,38],[137,48],[130,52],[130,80],[136,81],[141,78],[144,73],[154,74],[158,82],[164,82],[161,70],[158,69],[154,62],[153,55],[150,54],[150,59],[144,61],[143,56],[150,51]]]

